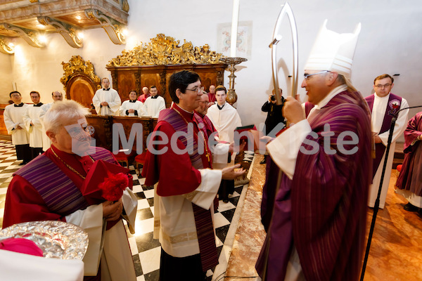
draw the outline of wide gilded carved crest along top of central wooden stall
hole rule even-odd
[[[123,50],[122,55],[112,58],[107,66],[137,65],[191,65],[221,63],[222,53],[210,51],[210,46],[193,47],[190,41],[179,46],[179,40],[165,34],[157,34],[148,44],[135,46],[132,50]]]

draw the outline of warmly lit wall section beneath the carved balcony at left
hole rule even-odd
[[[84,47],[70,47],[60,34],[48,34],[48,43],[44,48],[34,48],[23,39],[15,39],[15,54],[11,55],[12,79],[23,96],[23,102],[30,103],[30,91],[39,91],[43,103],[51,102],[52,91],[62,91],[64,61],[68,63],[72,55],[81,55],[84,60],[94,63],[94,70],[99,77],[110,77],[106,64],[110,58],[120,54],[124,46],[113,44],[104,30],[86,30]],[[3,72],[1,67],[1,72]],[[2,93],[3,96],[3,93]],[[1,96],[1,97],[2,97]]]

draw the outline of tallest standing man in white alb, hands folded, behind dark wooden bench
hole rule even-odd
[[[101,80],[101,85],[103,89],[97,90],[92,98],[97,114],[118,115],[120,105],[122,105],[119,93],[115,89],[110,89],[110,81],[106,77]]]

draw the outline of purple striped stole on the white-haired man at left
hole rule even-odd
[[[113,156],[105,149],[96,148],[96,153],[91,157],[114,162]],[[25,178],[39,192],[52,213],[68,216],[89,206],[75,183],[45,155],[37,156],[13,175]]]

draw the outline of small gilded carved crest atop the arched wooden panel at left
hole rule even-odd
[[[87,60],[84,61],[84,59],[80,55],[72,55],[72,58],[70,58],[69,63],[62,62],[63,70],[65,71],[65,74],[63,74],[63,77],[61,77],[60,82],[62,82],[63,85],[68,84],[68,81],[70,77],[74,74],[83,73],[89,76],[94,83],[100,83],[101,79],[100,77],[96,76],[94,72],[94,65]]]

